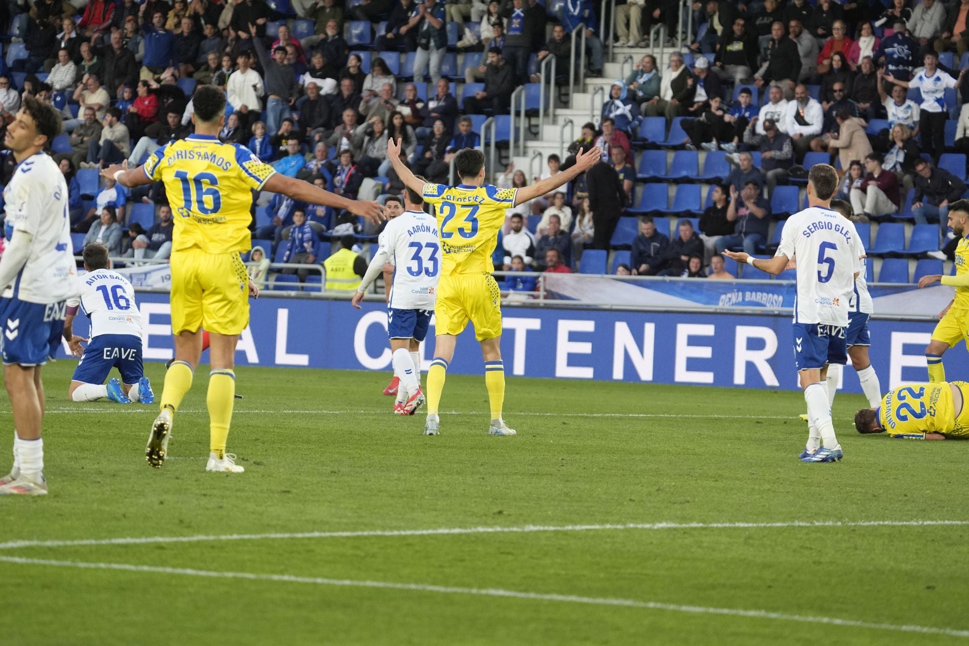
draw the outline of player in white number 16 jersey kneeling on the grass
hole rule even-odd
[[[108,268],[108,247],[91,242],[84,247],[80,294],[67,301],[64,338],[71,354],[80,356],[67,395],[72,401],[93,402],[107,397],[119,404],[152,404],[155,395],[141,365],[141,312],[135,304],[135,288]],[[74,334],[78,307],[91,320],[88,339]],[[81,343],[88,342],[87,348]],[[81,355],[81,353],[83,353]],[[121,381],[105,379],[117,368]]]

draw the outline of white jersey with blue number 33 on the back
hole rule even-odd
[[[437,220],[423,211],[404,211],[381,234],[380,251],[394,265],[390,306],[432,310],[441,274]]]

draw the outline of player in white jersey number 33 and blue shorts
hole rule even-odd
[[[407,210],[391,220],[381,233],[380,247],[370,261],[352,302],[359,309],[363,293],[383,271],[385,262],[391,262],[396,267],[387,309],[393,372],[400,380],[393,412],[396,415],[414,415],[424,403],[419,351],[434,313],[441,256],[437,220],[422,210],[421,194],[410,188],[405,189],[404,207]]]

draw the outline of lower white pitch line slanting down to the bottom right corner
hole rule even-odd
[[[126,563],[88,563],[82,561],[52,561],[47,559],[25,559],[16,556],[0,556],[0,562],[18,565],[49,566],[55,568],[76,569],[113,569],[130,572],[150,572],[154,574],[175,574],[182,576],[201,576],[206,578],[246,579],[251,581],[277,581],[283,583],[302,583],[321,586],[338,586],[346,588],[376,588],[382,590],[406,590],[409,592],[429,592],[442,595],[474,595],[478,597],[500,597],[519,600],[558,601],[564,603],[581,603],[586,605],[607,605],[646,610],[667,610],[670,612],[687,612],[704,615],[726,615],[732,617],[748,617],[751,619],[769,619],[774,621],[798,622],[802,624],[825,624],[843,628],[860,628],[876,631],[918,632],[922,634],[943,634],[951,637],[969,637],[969,631],[951,628],[936,628],[931,626],[913,626],[902,624],[880,624],[856,619],[841,619],[838,617],[810,617],[793,615],[768,610],[747,610],[743,608],[718,608],[703,605],[680,605],[677,603],[662,603],[659,601],[639,601],[631,599],[613,599],[603,597],[580,597],[577,595],[555,595],[537,592],[520,592],[517,590],[502,590],[500,588],[458,588],[453,586],[430,585],[424,583],[395,583],[392,581],[367,581],[353,579],[330,579],[316,576],[296,576],[293,574],[257,574],[252,572],[212,571],[207,569],[189,568],[160,568],[155,566],[138,566]]]

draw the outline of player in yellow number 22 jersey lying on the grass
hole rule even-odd
[[[969,384],[933,382],[890,390],[875,408],[855,414],[859,433],[887,432],[893,438],[945,440],[969,437]]]

